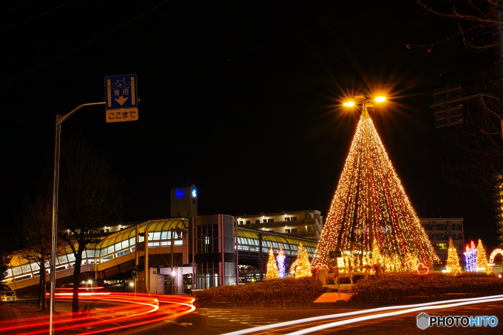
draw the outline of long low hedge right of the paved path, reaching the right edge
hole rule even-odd
[[[385,278],[359,280],[353,286],[351,301],[434,300],[448,293],[503,292],[503,280],[488,276],[464,274],[452,276],[442,273],[388,275]]]

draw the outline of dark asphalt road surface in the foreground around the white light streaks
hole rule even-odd
[[[14,304],[36,304],[36,300],[22,300]],[[70,309],[71,304],[66,301],[56,302],[56,308]],[[100,306],[103,304],[103,306]],[[109,302],[97,302],[97,308],[110,307]],[[197,308],[194,312],[169,320],[158,321],[146,326],[134,326],[113,333],[135,334],[135,335],[151,335],[155,334],[170,334],[170,335],[187,335],[188,333],[203,334],[203,335],[219,335],[235,330],[246,329],[261,325],[275,324],[278,322],[296,320],[301,318],[328,315],[336,313],[344,313],[348,311],[356,311],[357,309],[311,309],[311,310],[285,310],[285,309],[209,309]],[[342,325],[330,329],[313,332],[313,334],[355,334],[364,333],[365,335],[380,335],[380,334],[500,334],[503,333],[503,302],[492,302],[483,304],[473,304],[468,306],[457,306],[449,309],[425,310],[429,315],[494,315],[498,318],[499,324],[496,327],[428,327],[422,330],[416,326],[416,317],[421,311],[390,316],[374,320],[361,321],[357,323]],[[365,313],[370,314],[370,313]],[[365,315],[364,314],[364,315]],[[361,316],[361,315],[357,315]],[[356,316],[355,316],[356,317]],[[312,326],[325,324],[333,321],[341,320],[328,319],[322,321],[313,321],[309,324],[290,325],[281,329],[272,328],[268,330],[256,331],[252,334],[288,334],[300,329],[306,329]],[[122,322],[121,322],[122,323]]]

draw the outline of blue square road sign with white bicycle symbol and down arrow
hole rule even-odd
[[[105,102],[107,110],[138,107],[136,74],[105,77]]]

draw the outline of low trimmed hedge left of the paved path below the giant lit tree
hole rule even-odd
[[[216,286],[194,292],[199,302],[274,303],[313,302],[324,293],[320,282],[312,277],[268,279],[262,283],[239,286]]]

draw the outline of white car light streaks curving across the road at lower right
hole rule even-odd
[[[387,307],[379,307],[379,308],[372,308],[372,309],[363,309],[363,310],[358,310],[358,311],[354,311],[354,312],[321,315],[321,316],[308,317],[305,319],[298,319],[298,320],[292,320],[292,321],[286,321],[286,322],[280,322],[280,323],[273,323],[273,324],[263,325],[263,326],[259,326],[259,327],[231,331],[231,332],[227,332],[227,333],[224,333],[221,335],[240,335],[240,334],[246,334],[246,333],[250,333],[250,332],[256,332],[259,330],[266,330],[266,329],[270,329],[270,328],[281,328],[284,326],[298,324],[298,323],[305,323],[305,322],[309,322],[309,321],[319,321],[319,320],[338,318],[338,317],[343,317],[343,316],[351,316],[351,315],[358,315],[358,314],[364,314],[364,313],[379,312],[379,311],[384,311],[384,310],[389,310],[389,309],[408,308],[407,309],[408,311],[406,311],[405,313],[410,313],[410,312],[412,312],[410,309],[421,310],[421,309],[435,309],[435,308],[440,308],[440,307],[445,307],[445,306],[450,306],[450,307],[454,306],[454,305],[434,306],[434,305],[438,305],[438,304],[461,303],[461,304],[468,305],[471,303],[480,303],[480,302],[487,302],[487,301],[500,301],[500,300],[503,300],[503,295],[493,295],[493,296],[489,296],[489,297],[466,298],[466,299],[455,299],[455,300],[445,300],[445,301],[432,301],[432,302],[426,302],[426,303],[422,303],[422,304],[387,306]],[[429,306],[433,306],[433,307],[429,307]],[[410,307],[414,307],[414,308],[410,308]],[[398,312],[402,312],[402,311],[398,311]],[[392,312],[392,313],[395,313],[395,312]],[[381,313],[381,314],[375,314],[375,315],[381,315],[379,317],[383,317],[383,314],[388,314],[388,313]],[[375,316],[375,315],[372,315],[372,316]],[[366,316],[363,316],[363,317],[366,317]],[[360,318],[358,318],[358,319],[360,319]],[[349,319],[349,320],[344,320],[344,321],[349,321],[347,323],[358,322],[358,321],[352,321],[352,320],[355,320],[355,319]],[[359,321],[361,321],[361,320],[359,320]],[[343,322],[343,321],[338,321],[338,322]],[[334,323],[337,323],[337,322],[334,322]],[[322,325],[322,326],[326,326],[326,325]],[[334,327],[334,326],[332,325],[330,327]],[[307,328],[304,330],[309,330],[309,329],[312,329],[312,328]],[[315,329],[315,330],[318,330],[318,329]],[[312,330],[312,331],[315,331],[315,330]],[[294,334],[300,334],[300,333],[294,332],[294,333],[290,333],[288,335],[294,335]]]

